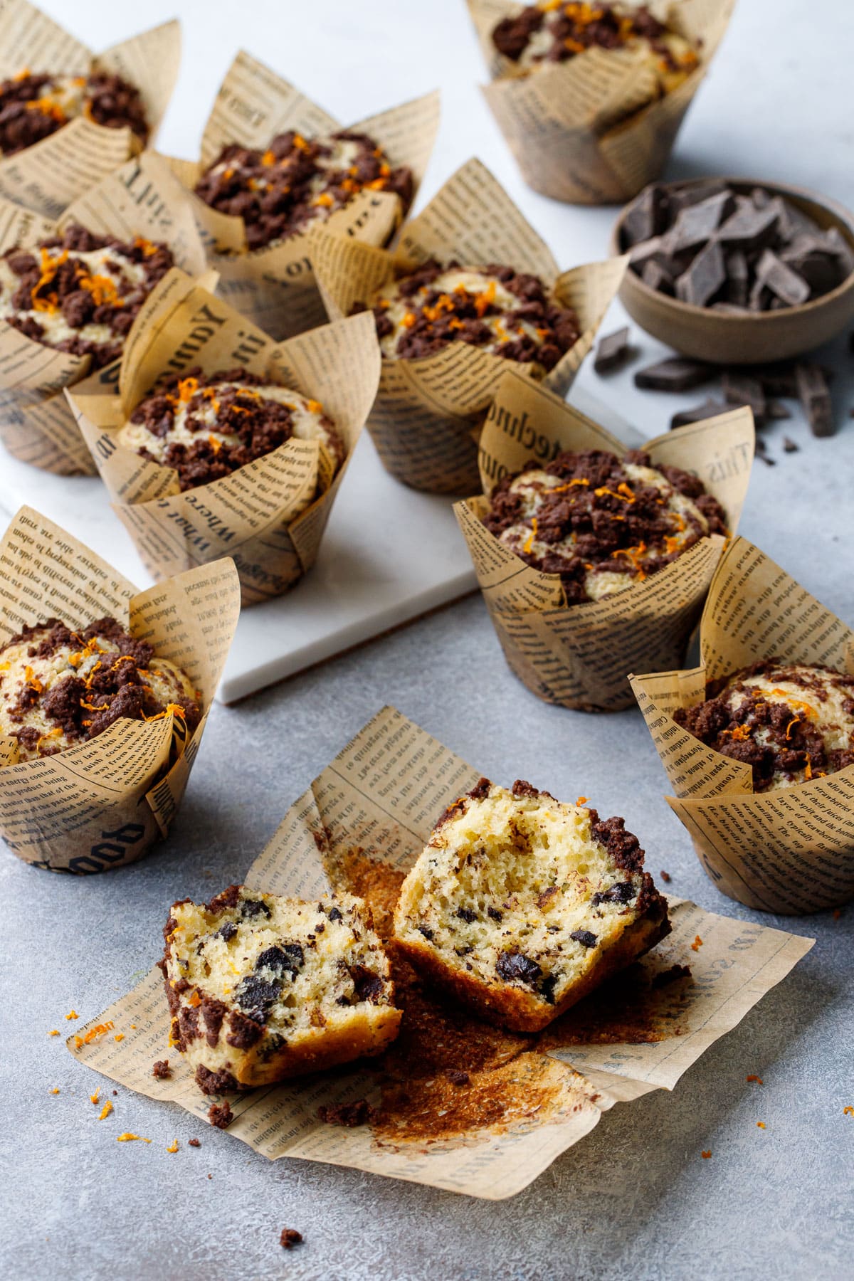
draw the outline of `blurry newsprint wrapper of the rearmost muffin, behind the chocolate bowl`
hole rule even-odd
[[[632,49],[590,49],[565,63],[520,76],[492,41],[502,18],[520,12],[512,0],[469,0],[492,83],[483,92],[534,191],[572,205],[631,200],[663,170],[730,20],[735,0],[650,4],[657,18],[685,36],[699,65],[654,102],[656,76]]]

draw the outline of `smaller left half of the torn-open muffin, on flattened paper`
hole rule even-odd
[[[174,903],[160,968],[172,1041],[205,1094],[379,1054],[397,1035],[389,963],[365,903],[229,885]]]

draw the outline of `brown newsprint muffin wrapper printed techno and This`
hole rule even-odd
[[[698,475],[723,507],[730,532],[736,529],[753,461],[750,410],[667,432],[643,448],[653,466]],[[562,450],[609,450],[622,457],[626,446],[530,379],[506,374],[480,438],[484,493],[453,510],[512,671],[547,703],[620,711],[632,703],[627,673],[682,660],[725,539],[702,538],[643,582],[602,601],[567,606],[560,576],[526,565],[480,519],[502,477],[531,459],[544,465]]]

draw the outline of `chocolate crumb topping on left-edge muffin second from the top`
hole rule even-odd
[[[128,279],[117,286],[111,277],[93,275],[90,264],[77,255],[100,249],[114,252],[118,274],[123,274],[123,263],[133,263],[142,268],[143,281],[136,284]],[[19,281],[12,296],[12,306],[18,311],[61,311],[72,329],[100,324],[111,330],[110,342],[93,342],[81,334],[52,342],[50,328],[36,316],[6,316],[10,325],[35,342],[74,356],[91,356],[93,369],[122,355],[124,339],[145,298],[174,264],[168,245],[141,236],[128,242],[114,236],[96,236],[77,223],[69,224],[60,236],[40,241],[32,251],[18,246],[6,250],[3,259]]]

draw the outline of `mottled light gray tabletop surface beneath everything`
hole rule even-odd
[[[47,8],[72,22],[60,0]],[[92,0],[76,6],[73,22],[100,47],[173,9],[184,15],[184,92],[163,145],[187,155],[238,38],[306,87],[316,76],[318,99],[343,119],[431,87],[442,78],[437,54],[449,47],[455,58],[465,55],[467,70],[465,78],[460,70],[446,77],[444,143],[431,186],[465,159],[461,131],[469,131],[469,151],[478,131],[476,150],[512,186],[561,261],[604,252],[613,211],[565,210],[515,182],[476,96],[480,63],[461,0],[417,6],[431,20],[408,61],[383,37],[391,8],[388,0],[365,0],[359,10],[325,0],[298,15],[288,6],[286,20],[284,6],[252,0],[241,6],[237,32],[230,5],[151,0],[141,14],[127,3],[108,9]],[[394,6],[394,22],[402,13],[415,22],[415,10]],[[314,41],[307,47],[318,60],[307,69],[293,56],[291,22]],[[816,184],[853,205],[854,137],[842,97],[854,54],[850,27],[839,0],[741,0],[681,135],[673,174],[766,174]],[[364,58],[352,55],[357,40]],[[618,322],[617,309],[612,319]],[[644,342],[650,359],[657,350]],[[851,360],[842,342],[825,355],[840,371],[840,434],[816,442],[798,418],[776,425],[768,439],[778,462],[757,462],[741,532],[854,621]],[[631,371],[608,382],[590,370],[581,378],[647,434],[666,425],[670,402],[636,392]],[[782,455],[784,432],[799,453]],[[100,1125],[88,1102],[101,1079],[74,1063],[49,1030],[65,1034],[72,1025],[63,1016],[72,1007],[88,1018],[127,990],[159,951],[169,903],[207,898],[238,879],[289,802],[385,702],[495,779],[530,778],[557,796],[584,793],[602,812],[624,813],[653,870],[671,872],[675,893],[814,935],[816,948],[672,1094],[613,1108],[512,1202],[479,1203],[305,1162],[271,1164],[179,1109],[125,1090],[114,1099],[122,1127],[154,1143],[117,1144],[115,1127]],[[854,1116],[844,1108],[854,1106],[854,910],[840,918],[781,921],[722,898],[663,790],[638,714],[590,717],[536,702],[507,671],[480,600],[470,598],[241,706],[215,707],[174,834],[146,861],[70,880],[0,851],[5,1275],[853,1277]],[[764,1084],[748,1085],[749,1073]],[[186,1146],[193,1135],[198,1150]],[[170,1155],[165,1144],[174,1136],[181,1152]],[[702,1159],[703,1149],[712,1158]],[[298,1228],[305,1245],[280,1250],[283,1226]]]

